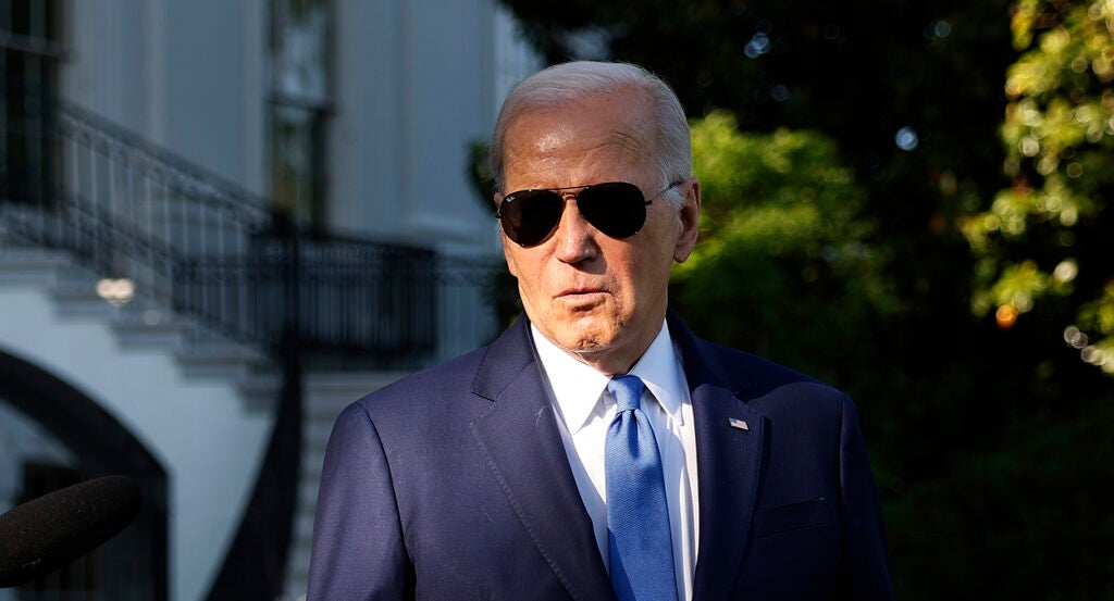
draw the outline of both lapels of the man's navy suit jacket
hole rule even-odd
[[[701,533],[693,597],[726,599],[750,536],[765,418],[740,400],[746,382],[722,367],[719,351],[672,313],[668,323],[696,427]],[[492,402],[470,424],[472,437],[538,551],[574,599],[614,599],[525,316],[492,343],[472,393]]]

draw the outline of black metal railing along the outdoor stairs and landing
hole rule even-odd
[[[127,282],[134,297],[117,303],[141,299],[270,353],[294,317],[309,353],[392,366],[462,352],[495,327],[490,262],[306,235],[265,199],[95,115],[46,114],[40,137],[19,131],[42,166],[0,197],[0,234]]]

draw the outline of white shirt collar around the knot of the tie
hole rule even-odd
[[[538,328],[530,324],[534,346],[538,358],[549,380],[549,386],[557,401],[557,407],[565,420],[569,432],[576,433],[588,420],[605,414],[604,404],[599,402],[610,376],[577,361],[561,351],[553,342],[541,335]],[[677,424],[683,425],[681,413],[683,386],[681,362],[677,358],[670,328],[663,322],[657,337],[642,358],[631,368],[629,375],[642,378],[646,388],[662,405],[666,415]]]

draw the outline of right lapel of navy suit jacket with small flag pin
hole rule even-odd
[[[696,426],[700,552],[693,598],[726,599],[750,535],[765,418],[740,400],[745,380],[723,368],[720,352],[672,313],[670,333],[681,348]]]

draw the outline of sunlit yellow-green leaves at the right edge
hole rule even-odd
[[[973,307],[1008,326],[1062,297],[1076,307],[1065,342],[1114,374],[1114,3],[1022,0],[1012,24],[1013,185],[964,221],[981,257]]]

